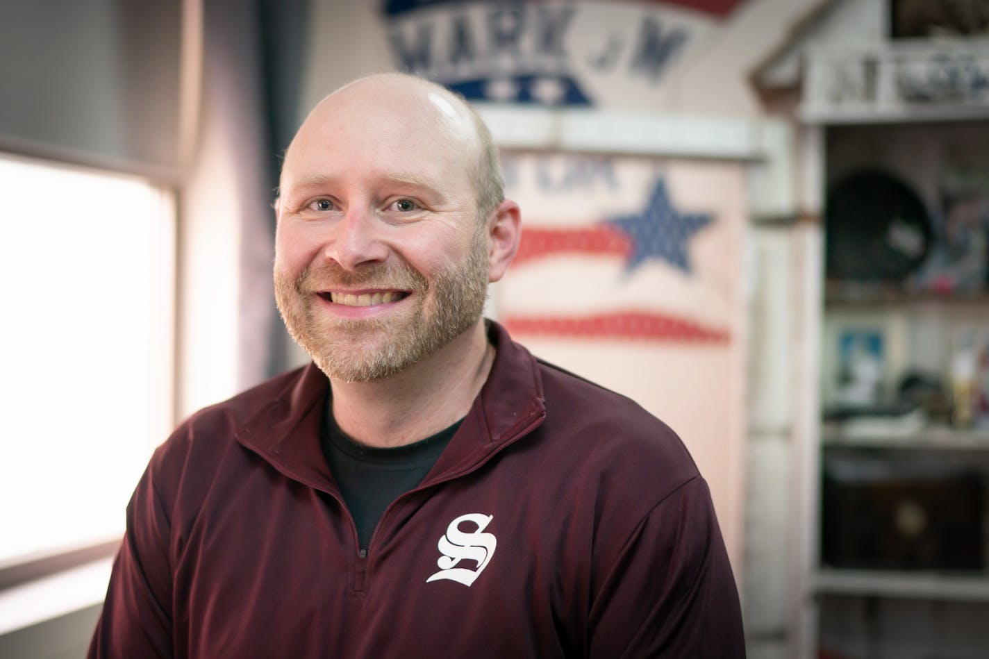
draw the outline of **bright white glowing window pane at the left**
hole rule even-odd
[[[172,424],[175,205],[0,155],[0,565],[120,537]]]

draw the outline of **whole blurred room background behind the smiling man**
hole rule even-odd
[[[488,121],[487,313],[683,437],[751,657],[989,656],[985,0],[0,1],[0,656],[82,656],[153,448],[306,361],[280,157],[385,70]]]

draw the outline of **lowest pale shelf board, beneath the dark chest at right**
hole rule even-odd
[[[814,575],[817,595],[989,602],[989,574],[843,570]]]

